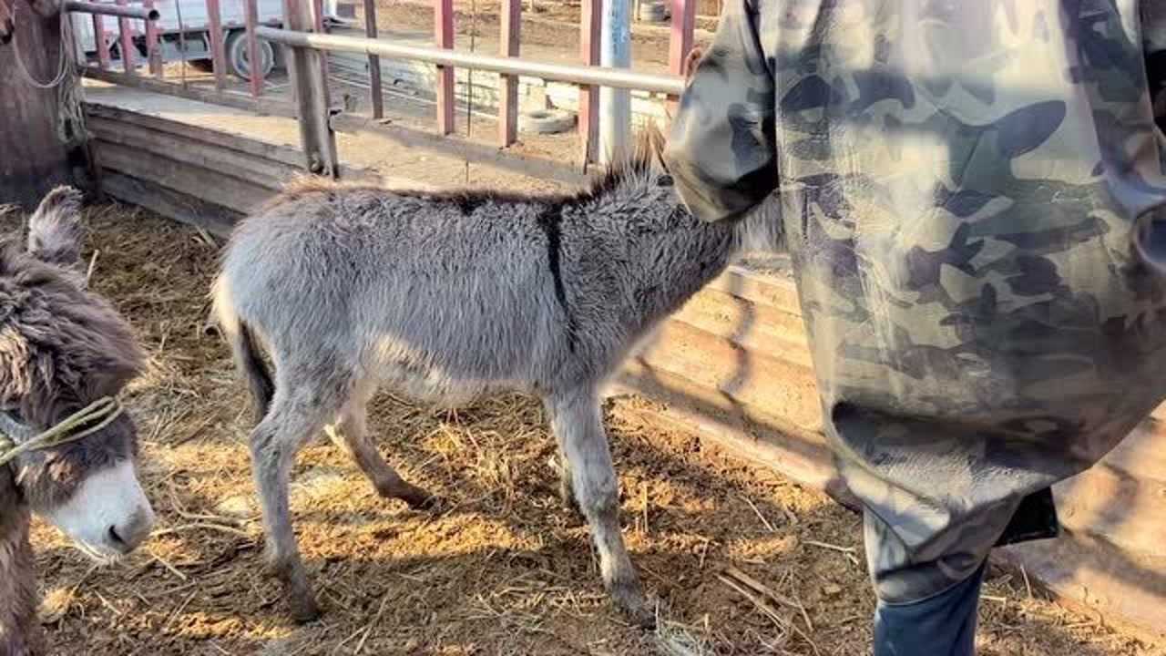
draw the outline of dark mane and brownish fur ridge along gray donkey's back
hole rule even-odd
[[[628,155],[620,162],[609,167],[602,175],[592,179],[591,183],[583,190],[573,193],[546,193],[546,191],[511,191],[499,189],[485,189],[475,187],[463,187],[455,189],[417,189],[409,187],[380,187],[368,183],[350,183],[315,175],[296,175],[289,180],[283,190],[274,198],[265,203],[257,214],[261,214],[275,208],[295,203],[308,196],[336,195],[351,193],[384,194],[386,191],[398,196],[424,198],[434,202],[448,202],[462,208],[469,214],[475,208],[485,203],[540,203],[555,205],[578,205],[602,198],[620,186],[638,177],[646,176],[653,162],[663,167],[663,137],[660,131],[649,125],[637,135],[635,144]]]

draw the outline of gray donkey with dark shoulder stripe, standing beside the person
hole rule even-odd
[[[736,226],[695,219],[656,166],[660,146],[652,132],[630,162],[575,195],[298,181],[236,229],[213,312],[257,403],[251,452],[268,559],[295,619],[319,613],[288,516],[305,441],[323,428],[381,496],[433,502],[366,434],[366,403],[384,385],[445,405],[503,390],[541,397],[563,500],[590,524],[607,592],[652,626],[620,535],[599,388],[746,236],[777,239],[764,212]]]

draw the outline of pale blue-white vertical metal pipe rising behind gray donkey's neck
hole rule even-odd
[[[632,16],[627,0],[605,0],[599,64],[632,67]],[[599,163],[621,161],[632,135],[632,96],[626,89],[599,90]]]

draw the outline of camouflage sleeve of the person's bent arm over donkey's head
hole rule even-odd
[[[672,125],[665,161],[703,221],[746,212],[778,184],[773,77],[758,41],[756,0],[729,0]]]

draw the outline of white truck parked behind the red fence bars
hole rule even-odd
[[[301,0],[311,1],[311,0]],[[141,5],[141,0],[131,0],[131,5]],[[251,78],[251,62],[247,57],[247,39],[245,29],[244,0],[219,0],[219,18],[222,20],[223,40],[226,50],[226,65],[231,75],[243,79]],[[183,60],[199,68],[210,69],[211,37],[210,21],[206,12],[206,0],[155,0],[154,8],[161,18],[156,21],[159,47],[166,62]],[[281,27],[283,23],[283,0],[257,0],[259,25]],[[325,25],[346,23],[337,15],[337,0],[324,0]],[[78,49],[93,62],[97,60],[97,42],[93,40],[93,20],[90,14],[72,14],[73,34]],[[118,19],[103,16],[105,42],[110,56],[117,65],[121,65],[121,40],[118,32]],[[131,20],[133,33],[134,64],[146,62],[146,27],[142,21]],[[279,51],[267,41],[259,40],[259,71],[264,77],[282,65]]]

